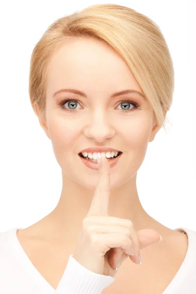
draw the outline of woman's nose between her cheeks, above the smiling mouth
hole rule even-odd
[[[88,125],[84,128],[84,135],[87,138],[93,138],[97,142],[103,142],[106,139],[112,138],[115,135],[114,127],[109,122],[107,114],[93,116]]]

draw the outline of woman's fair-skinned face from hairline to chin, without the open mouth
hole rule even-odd
[[[53,96],[61,89],[82,91],[86,98],[71,92]],[[81,150],[111,147],[123,152],[110,169],[110,188],[114,189],[137,173],[148,142],[157,132],[153,129],[152,108],[144,97],[137,93],[110,97],[127,89],[144,94],[121,57],[100,41],[70,39],[52,56],[47,79],[47,121],[44,125],[39,120],[64,174],[87,189],[95,189],[98,170],[83,164],[78,155]],[[59,105],[68,98],[74,101]]]

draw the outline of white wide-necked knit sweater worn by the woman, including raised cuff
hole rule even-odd
[[[87,270],[70,255],[54,290],[29,260],[18,240],[17,229],[21,228],[0,233],[0,294],[100,294],[115,282],[111,276]],[[175,230],[187,233],[188,250],[163,294],[196,294],[196,232],[187,228]]]

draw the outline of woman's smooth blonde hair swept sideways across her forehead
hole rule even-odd
[[[165,129],[172,105],[174,69],[166,40],[147,16],[117,4],[91,5],[52,23],[33,49],[29,97],[46,110],[46,81],[52,54],[70,38],[87,37],[105,42],[119,53],[150,103],[158,126]],[[36,112],[35,112],[36,114]]]

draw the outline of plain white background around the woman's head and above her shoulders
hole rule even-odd
[[[0,231],[25,228],[57,205],[61,169],[28,96],[30,56],[56,19],[108,1],[4,1],[0,8]],[[147,213],[169,228],[196,231],[196,27],[195,1],[128,0],[150,17],[168,43],[175,70],[171,124],[148,144],[138,171]]]

